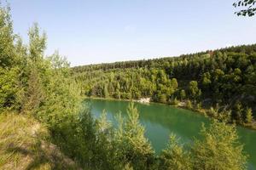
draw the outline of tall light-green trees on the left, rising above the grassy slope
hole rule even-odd
[[[44,56],[46,36],[40,34],[37,24],[29,30],[29,45],[24,45],[13,33],[9,7],[0,8],[0,28],[0,111],[20,111],[37,118],[61,149],[75,152],[71,156],[88,157],[86,150],[81,150],[85,133],[77,138],[73,134],[79,131],[78,124],[85,128],[89,123],[89,129],[93,126],[89,118],[79,122],[80,91],[70,77],[67,61],[57,53]],[[67,138],[64,146],[61,139]],[[77,142],[80,150],[74,150]]]

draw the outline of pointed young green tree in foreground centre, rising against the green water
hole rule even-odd
[[[148,169],[154,161],[154,151],[148,139],[144,137],[144,127],[140,124],[139,113],[134,103],[127,108],[127,119],[119,117],[119,128],[115,131],[115,145],[118,148],[118,160],[134,169]]]

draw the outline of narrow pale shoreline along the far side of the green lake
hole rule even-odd
[[[205,116],[205,117],[208,117],[210,119],[216,119],[213,116],[207,115],[207,111],[208,110],[206,110],[206,109],[200,109],[200,110],[196,110],[196,109],[193,109],[193,108],[190,109],[189,107],[186,107],[185,105],[178,105],[178,104],[177,105],[170,105],[170,104],[164,104],[164,103],[158,103],[158,102],[152,102],[152,101],[149,101],[149,102],[145,103],[145,102],[141,102],[140,100],[137,100],[137,99],[114,99],[114,98],[87,97],[87,96],[84,96],[83,99],[102,99],[102,100],[113,100],[113,101],[129,101],[129,102],[138,102],[138,103],[141,103],[143,105],[150,105],[150,104],[169,105],[169,106],[172,106],[172,107],[176,107],[178,109],[183,109],[183,110],[187,110],[187,111],[193,111],[196,114],[200,114],[201,116]],[[244,128],[256,131],[255,123],[256,122],[253,123],[254,126],[252,126],[252,125],[236,124],[236,127],[244,127]]]

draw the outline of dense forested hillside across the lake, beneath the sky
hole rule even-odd
[[[82,94],[206,109],[208,115],[253,126],[256,45],[179,57],[73,67]],[[255,115],[254,115],[255,116]]]

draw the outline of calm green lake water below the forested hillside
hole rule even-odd
[[[121,111],[126,116],[127,101],[86,99],[91,105],[92,114],[99,117],[102,110],[108,113],[108,120],[117,126],[115,116]],[[191,142],[194,137],[199,137],[201,124],[209,124],[209,120],[193,111],[187,111],[169,105],[137,103],[140,112],[140,122],[146,128],[146,137],[151,142],[156,153],[166,147],[170,133],[175,133],[182,142]],[[241,143],[250,156],[249,169],[256,169],[256,131],[243,127],[237,128]]]

